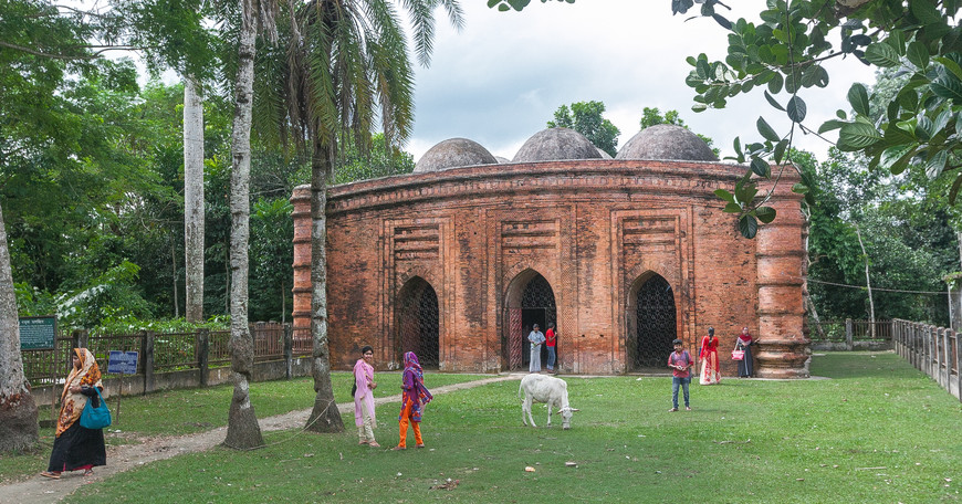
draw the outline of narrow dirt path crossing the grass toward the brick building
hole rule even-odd
[[[431,390],[431,393],[439,395],[462,390],[481,385],[493,384],[496,381],[517,380],[524,375],[506,375],[494,378],[485,378],[477,381],[466,381],[463,384],[447,385]],[[384,397],[375,400],[376,405],[386,402],[400,402],[400,395]],[[341,417],[347,428],[349,420],[354,418],[354,402],[338,405]],[[290,413],[278,414],[260,420],[262,431],[287,430],[303,427],[307,422],[311,414],[311,409],[291,411]],[[0,486],[0,503],[2,504],[20,504],[20,503],[56,503],[66,497],[81,485],[96,483],[100,480],[113,476],[114,474],[139,468],[150,462],[158,460],[170,459],[184,453],[199,452],[210,450],[221,443],[227,437],[227,427],[221,427],[207,432],[197,434],[187,434],[179,437],[158,437],[147,438],[140,444],[124,444],[121,447],[111,448],[107,451],[107,465],[95,469],[95,475],[92,477],[83,477],[80,471],[64,473],[62,480],[48,480],[36,475],[30,480]]]

